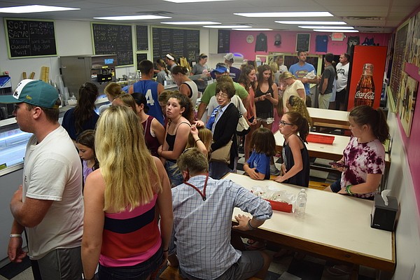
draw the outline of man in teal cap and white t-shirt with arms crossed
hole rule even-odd
[[[34,279],[82,279],[82,166],[66,130],[59,125],[59,98],[41,80],[22,80],[0,103],[14,103],[20,130],[33,133],[27,144],[22,185],[10,201],[14,221],[8,258],[28,254]],[[25,230],[26,229],[26,230]],[[22,250],[25,230],[29,252]]]

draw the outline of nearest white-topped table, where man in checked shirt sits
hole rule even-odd
[[[225,179],[248,190],[252,186],[268,186],[295,195],[300,190],[297,186],[268,180],[255,181],[239,174],[228,174]],[[308,199],[304,218],[296,218],[293,213],[273,211],[272,218],[258,230],[241,232],[241,235],[356,265],[394,271],[395,236],[393,232],[370,228],[371,200],[311,188],[306,191]],[[238,214],[245,213],[235,208],[233,221]]]

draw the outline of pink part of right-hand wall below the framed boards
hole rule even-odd
[[[405,72],[409,74],[409,76],[411,76],[415,80],[419,80],[419,83],[420,83],[420,75],[419,75],[418,67],[414,66],[413,64],[407,63],[405,65]],[[409,134],[409,138],[406,136],[399,118],[398,118],[398,124],[400,126],[402,142],[404,143],[405,151],[407,153],[409,170],[413,178],[414,193],[416,193],[417,206],[420,209],[420,172],[419,172],[420,170],[420,160],[419,160],[420,159],[420,102],[418,102],[419,98],[420,98],[420,87],[419,87],[419,90],[417,91],[417,102],[416,102],[416,107],[414,109],[412,129],[411,129],[411,133]]]

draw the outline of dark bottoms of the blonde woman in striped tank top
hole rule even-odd
[[[163,261],[162,247],[148,260],[131,267],[104,267],[99,264],[99,280],[145,280],[155,272]]]

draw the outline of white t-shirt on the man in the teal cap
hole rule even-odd
[[[56,248],[81,245],[83,234],[82,165],[69,134],[60,125],[36,144],[27,144],[22,199],[53,200],[45,217],[27,228],[29,256],[33,260]]]

